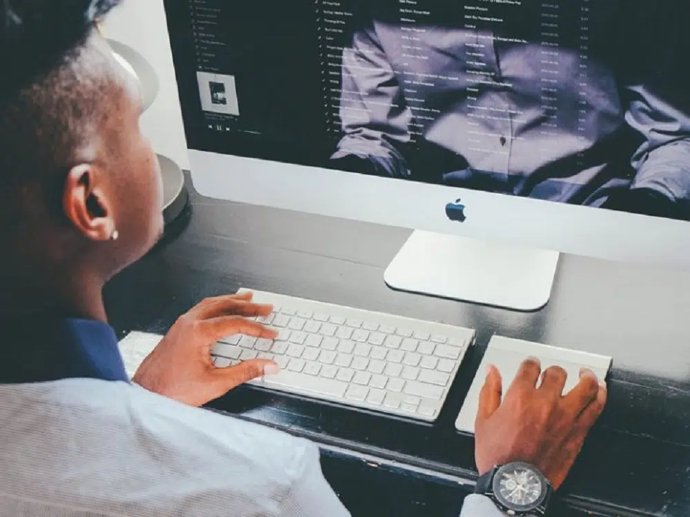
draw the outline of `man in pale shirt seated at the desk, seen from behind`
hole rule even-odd
[[[101,290],[161,234],[161,184],[136,86],[94,29],[118,0],[6,0],[0,23],[0,516],[338,517],[315,445],[198,409],[270,361],[215,368],[221,336],[275,333],[251,296],[180,316],[133,382]],[[18,56],[21,59],[18,59]],[[591,372],[491,369],[477,467],[521,460],[558,488],[602,411]],[[458,509],[460,511],[460,509]],[[500,511],[471,496],[463,516]]]

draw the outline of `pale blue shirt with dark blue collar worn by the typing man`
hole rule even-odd
[[[107,325],[56,328],[55,341],[46,325],[34,334],[78,359],[65,378],[8,381],[8,366],[27,354],[44,376],[59,365],[51,375],[31,346],[0,351],[0,517],[350,515],[313,443],[130,383]],[[480,496],[462,513],[500,516]]]

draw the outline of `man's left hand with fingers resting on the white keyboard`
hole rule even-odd
[[[208,298],[180,316],[141,363],[132,381],[168,398],[201,406],[253,378],[278,372],[273,361],[255,359],[217,368],[211,347],[220,338],[245,334],[273,339],[274,330],[247,318],[267,316],[270,305],[252,303],[252,294]]]

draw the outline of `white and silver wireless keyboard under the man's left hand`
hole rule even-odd
[[[242,292],[244,290],[241,290]],[[475,331],[252,291],[277,339],[230,336],[215,365],[265,358],[281,372],[250,384],[417,420],[435,420]]]

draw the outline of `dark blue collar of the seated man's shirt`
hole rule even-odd
[[[115,331],[76,318],[1,323],[0,384],[64,378],[129,381]]]

